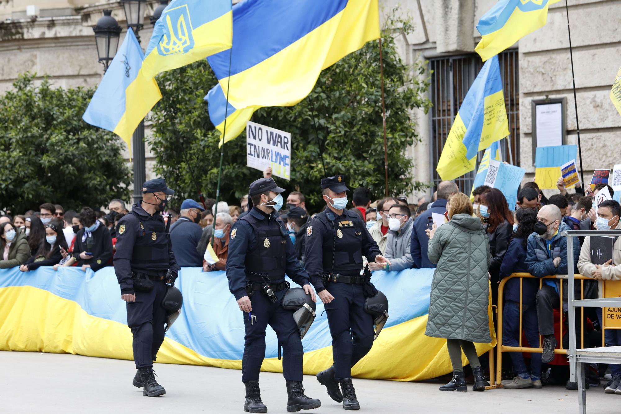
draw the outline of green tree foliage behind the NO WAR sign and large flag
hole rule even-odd
[[[388,27],[396,27],[391,32],[397,35],[412,29],[407,22],[394,19]],[[428,84],[417,80],[424,67],[417,63],[412,68],[402,62],[394,38],[386,32],[383,62],[388,192],[409,194],[425,186],[413,182],[414,162],[407,157],[406,149],[419,140],[412,110],[429,108]],[[323,204],[319,181],[325,175],[345,173],[352,190],[367,186],[377,198],[385,194],[379,75],[379,42],[368,42],[358,52],[322,71],[315,88],[301,103],[255,112],[252,121],[291,132],[291,181],[274,178],[286,190],[302,191],[311,209]],[[216,81],[204,60],[158,78],[163,99],[153,111],[151,144],[157,157],[156,172],[178,191],[178,200],[196,197],[198,190],[215,198],[219,132],[209,121],[203,97]],[[243,132],[224,145],[220,197],[233,204],[238,204],[240,196],[248,192],[250,182],[262,177],[258,170],[246,167],[245,140]],[[320,152],[324,154],[325,174]]]

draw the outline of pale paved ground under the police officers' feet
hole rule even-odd
[[[156,364],[168,393],[143,397],[132,386],[134,362],[38,352],[0,352],[0,413],[243,413],[238,370]],[[324,405],[313,413],[343,413],[314,377],[304,381],[307,395]],[[575,413],[576,392],[542,390],[440,392],[435,383],[354,379],[363,412],[369,413]],[[281,374],[261,373],[263,402],[270,413],[284,413]],[[621,395],[587,392],[587,410],[621,412]]]

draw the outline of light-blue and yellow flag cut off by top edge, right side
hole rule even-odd
[[[474,51],[483,62],[546,24],[548,6],[559,0],[499,0],[481,17],[481,41]]]

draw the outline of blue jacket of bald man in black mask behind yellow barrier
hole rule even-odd
[[[546,241],[537,234],[528,236],[526,249],[526,265],[528,272],[536,277],[567,274],[567,237],[560,236],[561,231],[571,230],[565,223],[561,223],[558,233],[552,237],[550,252]],[[578,273],[578,259],[580,257],[580,243],[574,242],[574,273]],[[554,266],[554,258],[560,257],[561,263]]]

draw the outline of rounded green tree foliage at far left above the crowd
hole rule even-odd
[[[0,210],[99,207],[129,197],[125,145],[82,120],[94,90],[35,86],[26,73],[0,96]]]

